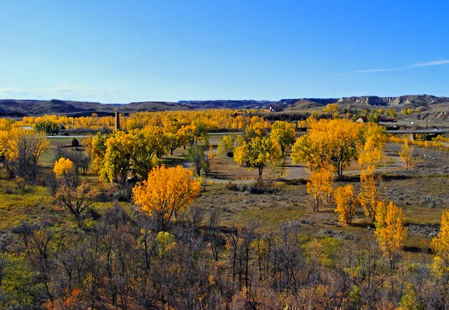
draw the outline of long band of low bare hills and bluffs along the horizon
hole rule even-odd
[[[280,101],[256,101],[256,100],[216,100],[216,101],[146,101],[123,104],[104,104],[85,101],[61,101],[52,99],[46,100],[0,100],[0,116],[22,117],[39,115],[66,115],[66,116],[90,116],[95,113],[99,116],[112,116],[114,109],[122,114],[131,114],[144,111],[175,111],[175,110],[198,110],[198,109],[268,109],[275,107],[276,111],[282,110],[300,111],[307,113],[307,110],[321,109],[330,103],[338,103],[341,108],[352,110],[372,110],[378,107],[384,109],[391,107],[397,111],[398,116],[401,110],[412,109],[418,114],[414,114],[414,119],[428,119],[428,121],[445,121],[449,115],[449,98],[430,95],[405,95],[399,97],[379,97],[379,96],[357,96],[344,97],[341,99],[281,99]]]

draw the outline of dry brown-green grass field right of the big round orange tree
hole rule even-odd
[[[394,159],[390,167],[378,170],[381,175],[379,196],[403,208],[409,229],[405,250],[427,252],[428,243],[439,229],[441,213],[449,208],[449,152],[415,147],[414,163],[406,168],[397,155],[399,149],[397,144],[387,145],[386,152]],[[286,162],[284,169],[282,165],[264,169],[263,178],[271,187],[271,194],[253,194],[256,170],[238,167],[232,158],[214,158],[210,178],[205,179],[205,190],[192,207],[218,211],[223,227],[255,224],[262,227],[262,231],[270,231],[289,223],[309,238],[330,236],[343,240],[363,239],[365,234],[372,234],[374,225],[363,216],[361,209],[350,226],[338,222],[332,202],[319,212],[312,211],[305,185],[307,167]],[[357,192],[359,169],[359,165],[352,165],[336,180],[336,186],[351,183]],[[229,189],[230,184],[234,190]]]

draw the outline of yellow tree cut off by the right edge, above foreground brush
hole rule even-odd
[[[434,251],[434,269],[439,275],[449,275],[449,209],[443,211],[441,226],[430,247]]]

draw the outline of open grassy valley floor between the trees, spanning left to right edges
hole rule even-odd
[[[216,143],[220,134],[211,137]],[[72,138],[50,138],[50,149],[41,158],[46,174],[51,173],[58,146],[69,147]],[[82,141],[82,139],[79,139]],[[215,141],[215,142],[214,142]],[[398,145],[389,144],[388,152],[394,154]],[[173,156],[166,156],[166,165],[182,164],[185,150],[176,149]],[[405,250],[428,251],[428,242],[437,234],[441,213],[449,208],[449,153],[439,149],[414,149],[414,165],[408,169],[397,165],[388,171],[383,168],[379,194],[383,200],[392,200],[402,207],[407,217],[409,237]],[[354,165],[352,171],[336,181],[336,185],[352,183],[359,186]],[[298,172],[300,171],[300,173]],[[353,224],[344,226],[338,222],[334,205],[325,205],[316,213],[308,205],[306,191],[307,168],[294,166],[289,162],[279,163],[276,167],[265,167],[263,177],[265,185],[271,188],[271,194],[254,194],[257,170],[239,167],[232,158],[217,156],[211,161],[211,174],[204,178],[204,191],[194,200],[191,207],[201,207],[205,211],[204,222],[211,211],[218,211],[221,227],[244,227],[257,225],[261,231],[277,229],[281,225],[295,225],[305,238],[336,238],[338,240],[363,240],[366,234],[372,234],[374,225],[359,210]],[[90,172],[88,182],[99,189],[107,190],[107,185],[99,183],[95,174]],[[45,178],[44,178],[45,179]],[[45,181],[43,181],[45,183]],[[233,190],[229,189],[233,185]],[[0,184],[1,229],[13,229],[25,221],[36,223],[46,217],[67,216],[64,210],[55,207],[50,190],[44,186],[26,185],[19,189],[13,180],[1,180]],[[110,204],[108,204],[110,205]],[[97,203],[99,213],[107,205]]]

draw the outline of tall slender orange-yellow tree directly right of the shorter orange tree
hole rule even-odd
[[[359,203],[365,210],[365,216],[370,216],[371,220],[376,219],[376,206],[377,206],[377,189],[376,178],[374,174],[374,166],[363,169],[360,174],[360,193]]]

